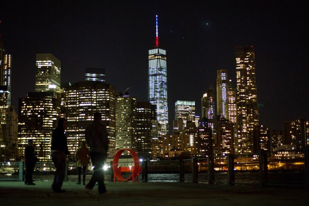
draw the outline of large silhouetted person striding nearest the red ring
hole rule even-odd
[[[90,158],[93,166],[93,174],[86,185],[86,192],[94,195],[93,187],[98,183],[99,194],[106,193],[103,166],[107,158],[109,140],[106,125],[101,124],[101,114],[99,112],[95,112],[94,121],[87,126],[85,139],[90,147]]]

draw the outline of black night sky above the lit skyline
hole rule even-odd
[[[35,90],[36,53],[61,61],[61,82],[105,68],[117,92],[147,101],[148,49],[167,50],[169,122],[177,100],[195,101],[215,88],[218,69],[236,87],[235,46],[255,47],[260,124],[309,120],[308,7],[305,1],[5,1],[0,34],[12,54],[12,104]],[[170,128],[171,131],[171,128]]]

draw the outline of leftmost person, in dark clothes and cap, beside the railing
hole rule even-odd
[[[26,174],[25,174],[25,185],[36,185],[33,183],[32,174],[34,171],[34,166],[36,165],[37,157],[36,151],[33,148],[33,140],[28,140],[28,145],[25,148],[25,165],[26,165]]]

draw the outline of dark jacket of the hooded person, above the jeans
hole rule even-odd
[[[57,127],[52,134],[52,150],[61,150],[66,154],[70,154],[66,139],[66,132],[62,127]]]

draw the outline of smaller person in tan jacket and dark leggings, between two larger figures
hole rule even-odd
[[[89,164],[90,156],[89,156],[89,149],[86,147],[86,142],[81,141],[81,147],[76,150],[75,159],[77,161],[77,172],[78,172],[78,182],[76,184],[80,185],[81,180],[81,173],[83,168],[83,185],[85,184],[86,180],[86,170]]]

